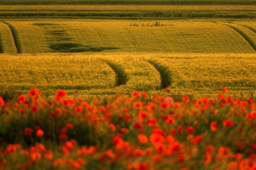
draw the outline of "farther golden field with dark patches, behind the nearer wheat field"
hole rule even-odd
[[[155,26],[156,22],[162,26]],[[255,53],[256,49],[256,33],[248,28],[255,28],[254,22],[248,22],[248,27],[247,22],[232,24],[199,20],[41,19],[2,22],[1,30],[11,35],[11,29],[8,30],[4,23],[14,32],[14,37],[9,37],[7,43],[15,40],[18,53]],[[4,47],[8,45],[4,43],[4,38],[7,36],[2,37],[1,46],[7,48]]]

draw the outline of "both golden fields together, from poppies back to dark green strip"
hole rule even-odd
[[[64,89],[109,99],[168,88],[180,100],[225,86],[235,98],[254,97],[255,29],[253,20],[5,19],[1,96],[36,87],[49,97]]]

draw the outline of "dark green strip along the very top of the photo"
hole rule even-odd
[[[212,1],[205,1],[205,0],[145,0],[145,1],[139,1],[139,0],[98,0],[98,1],[92,1],[92,0],[3,0],[0,1],[1,5],[51,5],[51,4],[67,4],[67,5],[251,5],[256,4],[256,1],[253,0],[245,0],[245,1],[239,1],[239,0],[226,0],[226,1],[220,1],[220,0],[212,0]]]

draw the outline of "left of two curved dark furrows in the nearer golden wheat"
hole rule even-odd
[[[116,73],[116,86],[121,86],[121,85],[126,84],[128,79],[127,79],[127,74],[124,71],[124,69],[120,65],[112,63],[109,60],[104,60],[104,61]]]

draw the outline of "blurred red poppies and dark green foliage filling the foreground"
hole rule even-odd
[[[0,169],[256,170],[255,101],[0,97]]]

